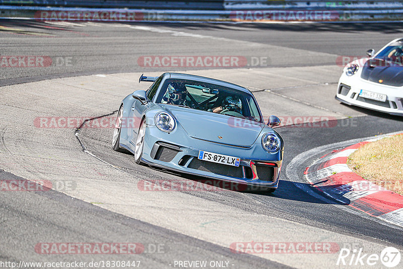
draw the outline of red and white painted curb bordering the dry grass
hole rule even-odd
[[[308,182],[327,195],[374,217],[403,227],[403,196],[380,187],[354,173],[347,158],[375,138],[334,150],[307,167]]]

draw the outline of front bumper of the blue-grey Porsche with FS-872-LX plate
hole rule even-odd
[[[199,150],[240,157],[240,165],[234,167],[198,160]],[[147,125],[142,161],[181,173],[262,188],[277,188],[282,158],[283,151],[270,154],[256,145],[235,147],[212,143],[191,138],[183,132],[176,135],[162,133],[154,125]]]

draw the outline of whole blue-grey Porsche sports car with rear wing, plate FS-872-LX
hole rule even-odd
[[[153,84],[123,99],[113,150],[130,151],[138,164],[277,189],[284,141],[273,127],[280,119],[264,124],[248,89],[178,73],[142,81]]]

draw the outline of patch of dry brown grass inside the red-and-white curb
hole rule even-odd
[[[403,135],[362,146],[349,156],[347,165],[361,177],[403,195]]]

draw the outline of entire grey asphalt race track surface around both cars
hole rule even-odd
[[[368,253],[384,246],[403,249],[402,228],[346,209],[309,187],[302,173],[326,152],[317,152],[289,167],[298,154],[319,146],[403,130],[399,117],[351,108],[333,99],[341,72],[335,64],[338,56],[364,55],[368,48],[379,49],[400,37],[403,28],[399,24],[71,24],[7,20],[0,21],[0,26],[1,55],[72,60],[72,64],[52,64],[48,68],[1,69],[0,86],[9,85],[0,88],[4,113],[0,167],[6,170],[1,173],[2,179],[77,178],[77,189],[71,192],[2,193],[0,260],[133,259],[126,255],[113,258],[40,255],[34,251],[38,242],[164,245],[164,253],[136,257],[144,268],[173,267],[170,264],[174,260],[229,260],[234,268],[336,267],[337,253],[331,256],[232,253],[230,243],[240,238],[244,239],[241,242],[333,240],[340,245],[358,243]],[[329,128],[278,129],[287,144],[281,182],[273,194],[143,192],[136,193],[144,198],[143,205],[137,202],[135,207],[135,201],[130,200],[135,198],[126,198],[124,194],[130,195],[130,188],[138,180],[193,178],[139,166],[132,156],[113,152],[111,128],[80,130],[80,140],[91,156],[83,152],[75,129],[38,130],[32,126],[32,115],[113,113],[126,94],[141,89],[142,85],[135,84],[141,73],[157,75],[168,71],[139,66],[137,59],[144,55],[267,56],[267,66],[253,69],[186,68],[186,71],[249,87],[264,115],[328,116],[335,124]],[[66,78],[92,74],[106,74],[102,75],[106,82],[100,82],[103,78],[97,76]],[[108,87],[115,91],[105,90]],[[267,89],[270,91],[264,91]],[[39,155],[42,156],[38,159]],[[67,160],[65,167],[57,167],[54,159],[63,155]],[[44,165],[39,166],[38,162]],[[61,161],[58,165],[64,166]],[[97,178],[94,171],[103,176]],[[203,208],[211,211],[205,212]],[[193,226],[199,221],[197,215],[204,217],[200,217],[203,225]],[[255,226],[248,218],[256,222]],[[236,219],[244,221],[244,227]],[[209,226],[210,222],[216,227]],[[253,232],[246,227],[253,227]]]

